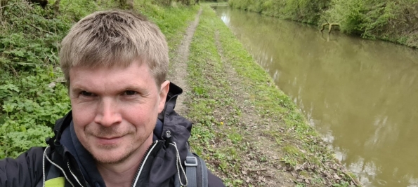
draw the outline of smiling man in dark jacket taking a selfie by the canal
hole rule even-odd
[[[182,167],[192,124],[174,111],[182,91],[165,81],[168,47],[155,24],[121,11],[88,15],[63,39],[60,63],[72,111],[49,146],[0,161],[0,186],[196,183]]]

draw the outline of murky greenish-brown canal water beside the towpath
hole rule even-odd
[[[418,186],[418,50],[216,13],[365,186]]]

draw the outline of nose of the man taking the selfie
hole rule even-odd
[[[96,109],[94,122],[105,127],[110,127],[122,122],[117,102],[112,98],[102,98]]]

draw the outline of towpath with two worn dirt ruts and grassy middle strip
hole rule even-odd
[[[252,101],[270,96],[260,96],[256,86],[234,69],[240,57],[231,56],[231,48],[223,49],[228,47],[221,41],[225,35],[208,11],[202,13],[201,8],[190,23],[169,74],[185,93],[178,97],[176,111],[190,117],[194,130],[202,130],[194,131],[191,144],[200,148],[208,167],[227,186],[355,186],[344,167],[322,159],[328,153],[319,153],[318,159],[303,147],[306,141],[319,141],[317,137],[297,138],[297,127],[282,119],[287,117],[260,114],[268,109]],[[202,111],[196,112],[200,106]],[[327,150],[316,144],[318,150]]]

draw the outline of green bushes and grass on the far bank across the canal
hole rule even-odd
[[[313,25],[338,23],[347,34],[418,48],[418,1],[229,0],[234,8]]]

